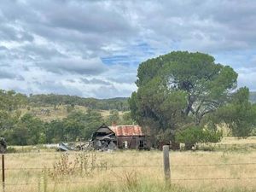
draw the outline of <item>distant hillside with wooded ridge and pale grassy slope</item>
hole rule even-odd
[[[83,111],[94,109],[107,119],[111,110],[118,110],[119,116],[129,111],[127,97],[110,99],[83,98],[67,95],[30,95],[26,97],[27,106],[20,108],[21,113],[32,113],[44,121],[63,119],[67,117],[69,110]],[[256,103],[256,92],[250,92],[250,101]]]

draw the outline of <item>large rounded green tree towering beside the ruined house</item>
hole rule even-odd
[[[216,63],[211,55],[183,51],[160,55],[138,67],[138,90],[129,100],[131,116],[155,131],[200,125],[207,113],[229,100],[236,79],[231,67]]]

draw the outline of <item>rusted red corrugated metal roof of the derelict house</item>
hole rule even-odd
[[[139,125],[115,125],[109,126],[116,136],[144,136]]]

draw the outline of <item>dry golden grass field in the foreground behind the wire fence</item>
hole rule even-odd
[[[230,146],[254,143],[224,138]],[[256,191],[256,150],[170,152],[171,187],[162,152],[70,152],[44,149],[5,154],[5,192],[13,191]],[[45,168],[44,168],[45,167]]]

